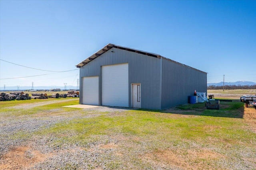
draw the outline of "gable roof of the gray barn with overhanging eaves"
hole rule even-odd
[[[82,61],[81,63],[77,64],[76,67],[77,67],[77,68],[80,68],[80,67],[86,65],[86,64],[89,63],[90,61],[96,59],[97,57],[99,57],[100,55],[106,53],[108,50],[110,50],[110,49],[112,49],[112,48],[122,49],[122,50],[126,50],[126,51],[132,51],[132,52],[134,52],[134,53],[139,53],[139,54],[143,54],[143,55],[148,55],[148,56],[151,56],[151,57],[156,57],[156,58],[158,58],[158,59],[164,58],[164,59],[169,60],[169,61],[172,61],[172,62],[174,62],[174,63],[180,64],[180,65],[183,65],[183,66],[187,66],[187,67],[189,67],[189,68],[193,68],[193,67],[188,66],[188,65],[186,65],[186,64],[182,64],[182,63],[179,63],[179,62],[177,62],[177,61],[174,61],[174,60],[168,59],[168,58],[166,58],[166,57],[163,57],[163,56],[161,56],[161,55],[159,55],[159,54],[150,53],[150,52],[146,52],[146,51],[141,51],[141,50],[137,50],[137,49],[131,49],[131,48],[128,48],[128,47],[122,47],[122,46],[120,46],[120,45],[114,45],[114,44],[110,44],[110,43],[109,43],[108,45],[106,45],[105,47],[103,47],[102,49],[100,49],[99,51],[97,51],[96,53],[94,53],[93,55],[91,55],[90,57],[88,57],[87,59],[85,59],[84,61]],[[196,69],[196,68],[193,68],[193,69],[198,70],[198,69]],[[201,70],[198,70],[198,71],[204,72],[204,71],[201,71]],[[207,73],[207,72],[204,72],[204,73]]]

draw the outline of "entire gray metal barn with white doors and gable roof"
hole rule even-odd
[[[207,73],[161,55],[108,44],[80,68],[80,104],[167,109],[207,91]]]

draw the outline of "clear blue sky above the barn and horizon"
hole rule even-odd
[[[76,86],[75,65],[108,43],[208,72],[208,83],[256,82],[256,1],[1,0],[0,87]]]

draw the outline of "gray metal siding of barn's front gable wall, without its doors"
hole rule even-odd
[[[150,57],[131,51],[112,48],[106,53],[102,54],[100,57],[97,57],[80,68],[80,82],[82,81],[82,77],[85,76],[100,77],[101,66],[128,63],[129,107],[131,107],[131,83],[141,83],[141,108],[161,109],[160,61],[161,60],[156,57]],[[99,85],[99,99],[101,99],[101,78]],[[81,84],[80,89],[82,89]],[[82,103],[81,98],[80,103]]]

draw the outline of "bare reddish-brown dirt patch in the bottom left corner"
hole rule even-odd
[[[20,146],[10,149],[10,151],[2,156],[0,169],[24,169],[30,168],[38,162],[44,161],[51,155],[42,154],[38,150],[31,147]]]

